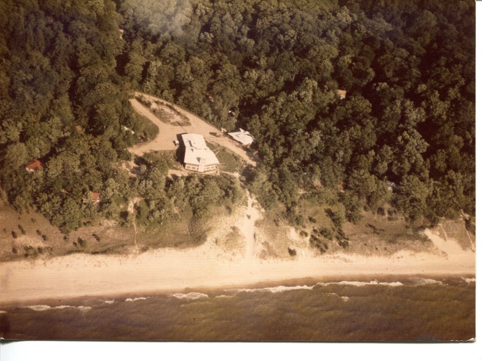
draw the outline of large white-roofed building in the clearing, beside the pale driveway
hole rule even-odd
[[[181,135],[184,143],[184,168],[197,172],[208,172],[218,168],[219,161],[200,134]]]

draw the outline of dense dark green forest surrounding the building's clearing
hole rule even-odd
[[[0,7],[1,181],[17,209],[68,230],[97,212],[90,191],[110,196],[106,215],[139,192],[113,165],[136,142],[122,127],[142,131],[128,101],[142,90],[253,134],[249,187],[293,219],[299,188],[340,186],[350,221],[386,202],[411,220],[475,214],[473,1]],[[25,172],[32,158],[43,171]]]

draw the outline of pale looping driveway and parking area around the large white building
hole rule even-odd
[[[136,155],[142,155],[150,151],[173,150],[173,149],[176,149],[176,146],[174,145],[174,141],[177,140],[178,134],[197,133],[202,135],[204,139],[206,139],[207,141],[229,149],[231,152],[240,156],[248,164],[251,164],[252,166],[256,166],[256,161],[252,159],[252,157],[248,154],[248,152],[246,152],[241,146],[237,145],[235,141],[231,140],[225,135],[222,135],[219,129],[206,123],[197,115],[182,109],[176,104],[173,104],[169,101],[166,101],[161,98],[157,98],[149,94],[136,91],[135,96],[136,97],[144,96],[145,98],[148,98],[151,101],[156,101],[156,100],[162,101],[165,104],[169,104],[173,106],[176,109],[176,111],[178,111],[180,114],[186,116],[189,119],[189,123],[191,125],[189,126],[174,125],[177,122],[170,122],[171,124],[163,123],[156,115],[154,115],[146,106],[141,104],[137,99],[135,98],[131,99],[130,101],[132,106],[134,107],[134,110],[136,110],[141,115],[144,115],[145,117],[147,117],[151,122],[153,122],[156,126],[159,127],[159,134],[154,140],[144,144],[134,146],[133,148],[130,149],[131,153],[134,153]],[[165,109],[167,111],[170,111],[170,109],[167,107],[165,107]],[[178,115],[175,114],[174,116],[178,116]],[[179,123],[182,123],[181,119],[179,119]],[[221,136],[219,138],[213,137],[210,133],[218,133]]]

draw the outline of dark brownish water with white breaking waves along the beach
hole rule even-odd
[[[328,341],[475,337],[474,280],[286,284],[290,286],[2,307],[6,312],[0,313],[0,336]]]

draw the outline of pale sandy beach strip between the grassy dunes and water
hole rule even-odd
[[[260,210],[248,207],[238,215],[243,252],[227,252],[216,244],[220,229],[202,246],[188,250],[160,249],[132,256],[75,254],[49,260],[0,264],[0,303],[127,293],[157,293],[186,288],[234,288],[258,282],[301,278],[395,275],[474,275],[475,253],[429,229],[425,234],[435,253],[398,252],[390,257],[317,255],[308,246],[290,259],[259,258],[255,233]],[[248,217],[249,215],[249,217]],[[221,227],[222,228],[222,227]]]

